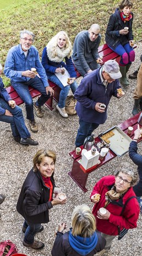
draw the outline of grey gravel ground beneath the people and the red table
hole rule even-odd
[[[135,50],[136,61],[130,67],[129,73],[134,72],[140,64],[140,55],[142,52],[142,44],[139,43]],[[111,128],[123,122],[125,119],[132,117],[133,108],[133,91],[136,86],[136,79],[130,79],[130,85],[123,88],[125,96],[121,100],[113,98],[108,107],[108,118],[105,124],[95,130],[97,136],[100,132]],[[88,204],[92,209],[93,205],[90,202],[90,193],[94,184],[102,177],[113,173],[119,163],[122,161],[132,161],[129,159],[128,153],[123,157],[116,157],[105,166],[90,173],[86,187],[88,192],[84,193],[77,184],[68,176],[68,172],[72,168],[73,160],[69,156],[69,152],[74,149],[74,140],[78,129],[78,116],[69,116],[62,118],[56,111],[56,103],[54,102],[54,110],[50,111],[44,107],[45,115],[42,119],[36,118],[39,126],[39,132],[32,134],[32,138],[39,141],[38,146],[23,146],[15,143],[12,138],[12,133],[9,124],[2,123],[0,125],[0,144],[1,144],[1,164],[0,164],[0,193],[6,194],[6,200],[0,206],[1,208],[1,233],[0,241],[10,239],[17,244],[19,253],[25,253],[28,256],[51,255],[55,232],[58,224],[65,221],[70,227],[70,216],[74,206],[79,204]],[[25,117],[25,107],[23,113]],[[28,126],[28,123],[27,123]],[[47,148],[56,151],[57,162],[54,179],[56,186],[61,187],[63,192],[67,194],[68,201],[66,205],[57,205],[50,210],[50,222],[43,224],[44,231],[36,235],[36,239],[45,243],[45,248],[36,251],[30,248],[23,247],[23,233],[21,227],[23,225],[23,217],[21,217],[15,208],[17,199],[20,193],[21,186],[26,175],[32,167],[32,159],[36,151],[41,148]],[[139,144],[140,152],[141,144]],[[134,164],[132,163],[134,166]],[[134,168],[136,168],[134,166]],[[129,230],[128,234],[121,240],[117,238],[113,241],[111,250],[106,253],[107,256],[140,256],[141,253],[141,228],[142,215],[139,216],[138,227],[134,230]]]

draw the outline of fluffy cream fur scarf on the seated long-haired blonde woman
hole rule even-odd
[[[56,56],[54,56],[52,43],[48,42],[46,46],[47,56],[50,61],[53,62],[62,62],[63,59],[69,55],[70,50],[71,46],[66,49],[64,47],[59,48],[58,46],[56,46]]]

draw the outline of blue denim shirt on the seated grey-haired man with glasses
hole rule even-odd
[[[10,48],[4,67],[4,74],[6,77],[14,82],[29,81],[30,78],[22,77],[21,73],[25,70],[31,70],[31,68],[36,68],[44,86],[49,86],[45,69],[41,64],[39,52],[35,46],[30,47],[27,56],[24,55],[21,45],[16,45]]]

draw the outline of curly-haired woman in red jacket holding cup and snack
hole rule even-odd
[[[103,177],[95,184],[91,193],[91,201],[95,204],[92,214],[96,217],[97,230],[106,239],[105,249],[97,256],[111,248],[112,240],[123,228],[136,227],[140,209],[132,187],[137,182],[138,172],[125,162],[114,176]]]

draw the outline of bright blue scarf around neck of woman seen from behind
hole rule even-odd
[[[73,236],[72,228],[69,231],[69,244],[70,246],[80,255],[89,254],[97,244],[98,238],[97,233],[94,232],[91,237]]]

